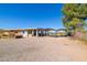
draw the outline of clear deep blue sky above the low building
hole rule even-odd
[[[0,4],[0,29],[63,28],[61,3]]]

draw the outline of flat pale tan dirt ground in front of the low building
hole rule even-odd
[[[1,39],[1,62],[81,62],[87,45],[69,37]]]

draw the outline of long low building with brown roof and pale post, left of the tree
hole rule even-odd
[[[1,30],[0,37],[30,37],[30,36],[47,36],[52,29],[18,29]]]

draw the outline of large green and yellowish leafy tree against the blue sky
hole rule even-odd
[[[63,9],[63,24],[69,31],[83,31],[87,19],[87,4],[67,3]]]

